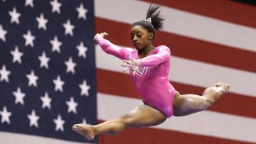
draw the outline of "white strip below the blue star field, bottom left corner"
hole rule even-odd
[[[36,135],[26,135],[20,133],[9,133],[9,132],[0,132],[0,144],[89,144],[89,143],[78,143],[68,140],[60,140],[55,138],[46,138]]]

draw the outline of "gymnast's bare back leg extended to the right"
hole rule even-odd
[[[218,83],[215,87],[208,87],[203,96],[196,94],[179,94],[174,96],[174,116],[186,116],[191,113],[203,111],[212,106],[223,94],[228,93],[228,84]]]

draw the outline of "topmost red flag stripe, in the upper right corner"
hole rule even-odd
[[[144,0],[154,4],[256,28],[256,8],[223,0]]]

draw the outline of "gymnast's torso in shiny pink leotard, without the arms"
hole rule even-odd
[[[156,47],[149,55],[156,54],[159,48],[161,46]],[[135,60],[139,59],[137,50],[133,50],[129,56]],[[171,61],[167,60],[155,67],[139,67],[134,76],[130,70],[130,77],[144,103],[159,105],[172,101],[173,98],[169,95],[175,90],[169,82],[170,66]]]

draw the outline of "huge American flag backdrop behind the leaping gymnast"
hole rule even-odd
[[[87,141],[73,123],[117,118],[142,101],[121,60],[93,35],[132,48],[131,24],[149,4],[166,18],[154,45],[171,49],[181,94],[216,82],[230,93],[190,116]],[[229,0],[0,1],[0,143],[256,143],[256,7]],[[96,67],[96,68],[95,68]],[[97,110],[97,112],[96,112]]]

